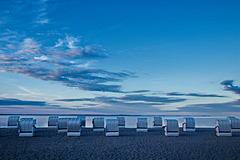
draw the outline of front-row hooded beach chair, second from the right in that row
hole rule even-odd
[[[169,136],[169,137],[179,136],[179,126],[178,126],[178,121],[177,120],[175,120],[175,119],[165,119],[164,123],[165,123],[165,126],[164,126],[165,136]]]

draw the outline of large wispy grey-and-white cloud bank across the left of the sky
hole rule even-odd
[[[21,43],[15,44],[15,51],[12,53],[5,51],[0,56],[1,71],[60,82],[64,86],[77,87],[81,90],[123,93],[120,85],[106,83],[123,81],[131,77],[132,73],[89,68],[96,62],[92,59],[101,57],[102,53],[91,49],[89,45],[85,47],[76,45],[74,48],[77,40],[73,37],[67,37],[66,41],[65,47],[59,49],[54,46],[43,46],[33,38],[24,38]],[[72,48],[66,49],[67,46]]]

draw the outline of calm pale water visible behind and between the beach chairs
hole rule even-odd
[[[7,121],[9,116],[0,116],[0,128],[7,127]],[[76,118],[77,116],[59,116],[59,118]],[[92,127],[92,119],[94,117],[104,117],[104,120],[106,119],[116,119],[117,116],[86,116],[86,127],[91,128]],[[137,118],[147,118],[148,119],[148,127],[153,127],[153,117],[154,116],[123,116],[125,117],[125,125],[126,128],[136,128],[137,126]],[[187,116],[162,116],[163,119],[163,125],[164,125],[164,119],[177,119],[179,126],[182,125],[184,117]],[[216,119],[226,119],[226,116],[191,116],[195,119],[196,127],[197,128],[214,128],[215,127],[215,120]],[[37,127],[47,127],[48,122],[48,116],[20,116],[20,118],[34,118],[37,121],[36,126]],[[237,117],[237,118],[240,118]]]

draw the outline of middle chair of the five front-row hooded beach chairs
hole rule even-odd
[[[118,119],[106,120],[106,136],[107,137],[119,136]]]

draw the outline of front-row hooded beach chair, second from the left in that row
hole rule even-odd
[[[70,118],[67,123],[67,136],[81,136],[81,119]]]

